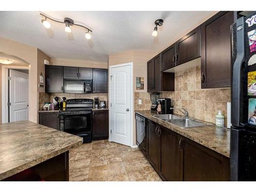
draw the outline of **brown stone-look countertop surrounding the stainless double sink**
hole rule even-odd
[[[200,143],[213,151],[229,157],[230,131],[228,130],[225,130],[215,125],[181,129],[179,126],[170,124],[164,120],[154,117],[153,115],[157,114],[157,112],[155,111],[135,111],[135,113],[138,113],[139,115],[147,119],[163,125],[167,129],[170,129],[184,137],[187,137],[188,139]]]

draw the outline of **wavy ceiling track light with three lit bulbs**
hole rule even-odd
[[[86,38],[87,38],[87,39],[90,39],[90,38],[91,38],[90,32],[93,32],[93,31],[90,30],[90,29],[88,29],[88,28],[85,27],[85,26],[82,26],[82,25],[79,25],[79,24],[75,24],[74,21],[73,21],[71,18],[66,17],[66,18],[64,18],[64,21],[62,21],[62,20],[58,20],[58,19],[52,18],[52,17],[50,17],[50,16],[47,16],[47,15],[45,15],[45,14],[43,14],[43,13],[40,13],[40,15],[42,15],[42,16],[45,17],[45,19],[42,19],[42,20],[41,20],[42,25],[44,25],[45,28],[48,28],[48,29],[49,29],[49,28],[51,27],[51,24],[47,21],[47,19],[50,19],[50,20],[53,20],[54,22],[65,24],[65,31],[66,31],[67,33],[71,33],[71,27],[70,27],[70,26],[72,26],[72,25],[85,28],[85,29],[87,29],[87,32],[86,32],[86,35],[85,35]]]

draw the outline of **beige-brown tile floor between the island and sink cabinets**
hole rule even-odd
[[[70,181],[162,181],[138,148],[108,140],[82,144],[69,159]]]

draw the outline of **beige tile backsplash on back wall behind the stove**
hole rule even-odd
[[[69,93],[39,93],[38,95],[38,109],[41,110],[45,102],[53,102],[54,97],[66,97],[67,99],[93,99],[98,97],[99,101],[106,101],[106,107],[108,108],[108,93],[92,93],[92,94],[69,94]]]

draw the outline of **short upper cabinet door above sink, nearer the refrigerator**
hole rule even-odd
[[[200,26],[176,42],[176,65],[200,57]]]

